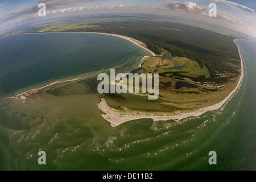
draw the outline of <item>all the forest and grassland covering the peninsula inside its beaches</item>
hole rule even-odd
[[[240,55],[233,42],[236,37],[221,32],[141,20],[53,24],[32,32],[56,31],[128,36],[156,53],[156,57],[146,57],[142,67],[131,72],[159,73],[159,100],[153,103],[130,94],[102,95],[114,108],[170,112],[211,106],[236,88],[241,74]],[[161,57],[163,53],[170,53],[172,58]]]

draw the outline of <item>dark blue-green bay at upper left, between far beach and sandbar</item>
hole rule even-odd
[[[0,39],[0,93],[52,78],[110,68],[144,50],[114,36],[83,33],[23,34]]]

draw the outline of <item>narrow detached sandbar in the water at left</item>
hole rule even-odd
[[[52,82],[49,85],[43,86],[42,88],[31,89],[31,90],[28,90],[26,92],[20,93],[16,96],[9,97],[9,98],[18,99],[18,100],[26,100],[27,98],[35,98],[40,93],[46,92],[47,90],[50,90],[52,88],[56,88],[57,86],[68,84],[69,82],[77,81],[77,80],[79,80],[79,78],[75,78],[75,79],[72,79],[72,80],[65,80],[65,81],[55,81],[55,82]]]

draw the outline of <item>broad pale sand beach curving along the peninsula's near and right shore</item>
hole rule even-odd
[[[235,44],[236,44],[236,40],[238,39],[234,40]],[[241,74],[240,74],[239,81],[236,85],[236,88],[232,92],[230,92],[229,95],[226,98],[224,98],[224,100],[218,102],[217,104],[203,107],[197,110],[174,111],[172,113],[166,113],[166,112],[152,113],[152,112],[147,112],[142,110],[131,110],[131,109],[127,109],[126,107],[123,107],[122,110],[117,110],[108,106],[104,98],[101,98],[100,102],[98,103],[98,108],[102,111],[102,117],[106,121],[110,122],[111,126],[113,127],[121,125],[122,123],[125,123],[127,121],[133,121],[135,119],[145,119],[145,118],[152,119],[153,121],[167,121],[171,119],[175,121],[179,121],[180,119],[184,119],[187,117],[199,117],[200,115],[206,113],[207,111],[220,109],[220,107],[224,105],[226,101],[229,100],[229,98],[237,91],[237,89],[240,88],[240,85],[243,79],[243,61],[242,61],[241,51],[239,47],[238,47],[238,52],[241,60]]]

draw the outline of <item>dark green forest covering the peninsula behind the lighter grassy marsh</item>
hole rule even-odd
[[[95,31],[130,36],[146,43],[155,53],[160,54],[165,49],[172,56],[188,57],[197,61],[201,68],[205,65],[209,69],[210,78],[198,77],[195,78],[196,81],[223,83],[229,80],[219,78],[216,72],[239,74],[228,63],[230,59],[240,60],[237,46],[233,42],[235,38],[232,36],[170,22],[115,21],[96,24],[100,27],[94,28]],[[163,26],[182,31],[159,28]]]

